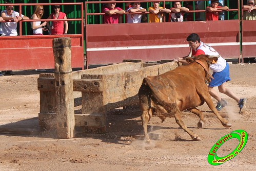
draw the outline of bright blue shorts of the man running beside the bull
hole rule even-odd
[[[213,72],[212,77],[214,78],[211,79],[211,82],[209,83],[209,87],[216,87],[216,86],[220,86],[223,83],[230,81],[230,77],[229,77],[229,65],[227,63],[226,67],[220,71],[220,72]]]

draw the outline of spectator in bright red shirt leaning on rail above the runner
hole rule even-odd
[[[210,7],[206,7],[206,20],[213,20],[213,21],[217,21],[219,20],[219,11],[217,10],[222,10],[222,11],[227,11],[228,7],[224,6],[221,7],[219,6],[219,1],[211,1],[211,6]]]

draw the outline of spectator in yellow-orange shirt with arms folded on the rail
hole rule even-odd
[[[163,22],[164,13],[170,13],[171,10],[160,7],[160,2],[153,2],[153,7],[149,7],[149,22]]]

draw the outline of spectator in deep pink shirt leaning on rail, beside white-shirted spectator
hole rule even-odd
[[[107,7],[104,8],[104,23],[105,24],[117,24],[122,23],[122,14],[125,14],[125,10],[119,7],[115,7],[115,0],[109,0],[111,3],[107,3]]]

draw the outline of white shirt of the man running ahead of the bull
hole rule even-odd
[[[211,46],[208,46],[202,41],[200,42],[200,46],[196,49],[195,52],[197,53],[198,51],[203,51],[205,55],[211,55],[211,56],[219,55],[219,53],[216,52],[214,48],[212,48]],[[226,60],[220,56],[216,63],[210,65],[210,69],[213,72],[220,72],[226,67],[226,65],[227,65]]]

